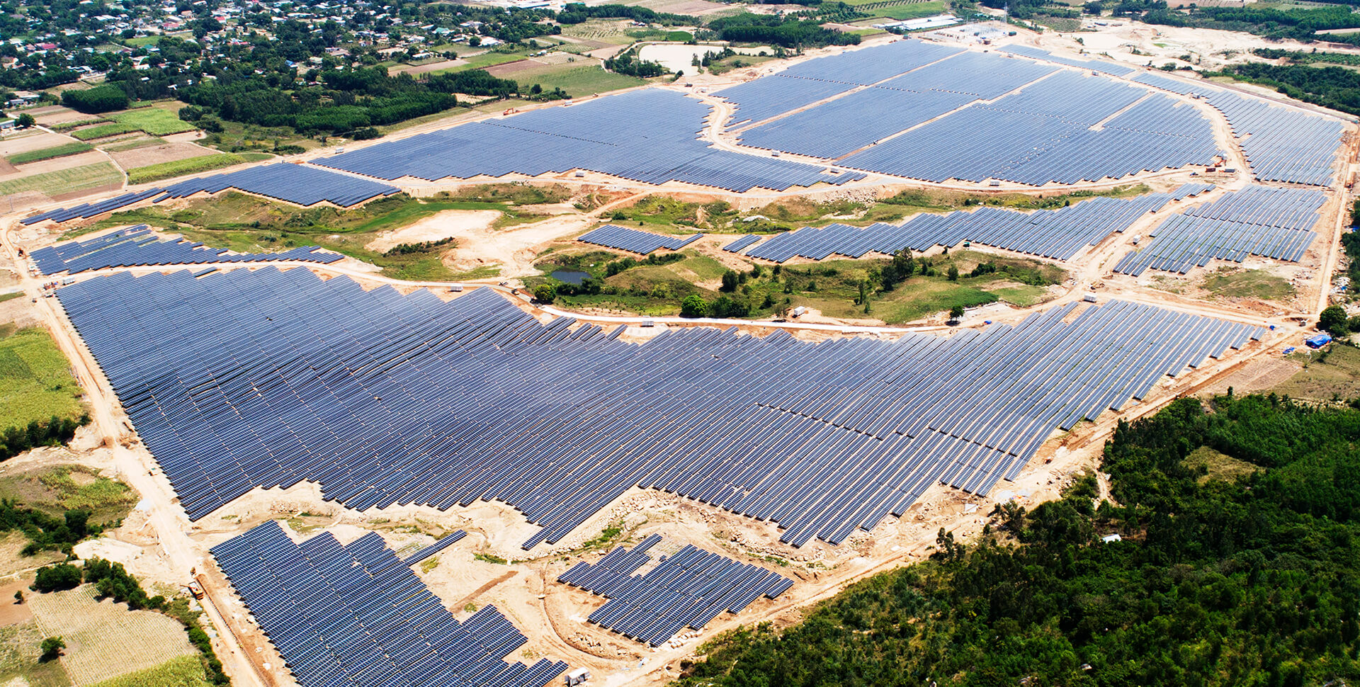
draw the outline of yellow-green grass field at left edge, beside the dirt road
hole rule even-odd
[[[0,333],[0,429],[84,412],[71,365],[46,329],[3,325]]]

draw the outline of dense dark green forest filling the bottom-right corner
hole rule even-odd
[[[1182,399],[1121,422],[1061,501],[865,580],[783,633],[721,635],[681,684],[1216,686],[1360,679],[1360,409]],[[1121,541],[1102,541],[1118,533]]]

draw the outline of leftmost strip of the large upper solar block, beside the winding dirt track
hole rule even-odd
[[[959,48],[925,41],[895,41],[879,48],[806,60],[779,73],[732,86],[714,95],[736,105],[737,113],[732,118],[734,125],[763,121],[959,52]]]

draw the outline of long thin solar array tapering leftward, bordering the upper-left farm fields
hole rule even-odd
[[[321,201],[329,201],[340,207],[355,205],[378,196],[390,196],[400,190],[388,184],[336,174],[317,167],[279,163],[203,178],[196,177],[170,186],[126,193],[94,204],[76,205],[69,210],[57,208],[22,219],[20,222],[23,224],[34,224],[45,219],[67,222],[71,219],[92,218],[147,199],[152,199],[152,203],[160,203],[170,199],[188,197],[194,193],[218,193],[228,188],[276,200],[286,200],[298,205],[314,205]]]

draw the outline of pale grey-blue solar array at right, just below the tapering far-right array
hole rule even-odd
[[[1149,233],[1156,238],[1130,250],[1114,271],[1186,273],[1209,260],[1240,263],[1248,254],[1296,263],[1316,238],[1311,229],[1326,200],[1321,190],[1251,185],[1171,216]]]

